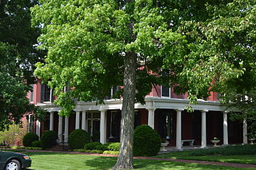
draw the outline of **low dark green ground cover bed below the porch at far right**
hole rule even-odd
[[[254,155],[256,154],[256,145],[237,145],[237,146],[226,146],[218,148],[200,149],[191,152],[191,156],[231,156],[231,155]]]

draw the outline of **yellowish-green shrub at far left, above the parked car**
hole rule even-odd
[[[22,122],[22,125],[10,125],[8,130],[0,131],[0,143],[5,141],[6,144],[10,145],[22,145],[22,139],[26,134],[26,130],[21,126],[26,126],[25,122]]]

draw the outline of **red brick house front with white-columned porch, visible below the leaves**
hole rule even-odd
[[[111,89],[114,93],[116,89]],[[43,132],[58,132],[58,142],[67,142],[68,135],[74,129],[82,128],[102,144],[119,141],[122,100],[109,97],[104,105],[95,102],[79,101],[70,117],[58,115],[61,108],[53,104],[52,90],[40,83],[33,85],[30,91],[30,103],[46,109],[44,122],[29,122],[34,132],[41,136]],[[150,125],[159,135],[168,140],[169,146],[182,149],[182,145],[201,145],[205,148],[210,140],[217,137],[221,144],[247,144],[246,121],[230,121],[229,110],[218,101],[218,94],[211,93],[207,101],[198,101],[193,105],[194,112],[188,113],[189,101],[185,95],[175,95],[173,89],[155,86],[146,96],[146,105],[135,104],[134,127]]]

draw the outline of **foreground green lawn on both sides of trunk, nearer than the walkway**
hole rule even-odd
[[[79,154],[66,154],[58,152],[26,152],[32,159],[34,170],[82,170],[82,169],[110,169],[114,166],[117,158],[102,156],[87,156]],[[160,160],[134,160],[136,169],[250,169],[250,168],[229,168],[224,166],[203,165],[203,164],[184,164]]]

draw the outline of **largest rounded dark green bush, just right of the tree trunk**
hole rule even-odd
[[[157,155],[161,147],[161,137],[149,125],[139,125],[134,130],[134,156]]]

